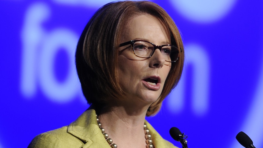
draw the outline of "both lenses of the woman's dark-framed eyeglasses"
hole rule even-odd
[[[133,51],[136,56],[142,58],[150,57],[154,52],[154,45],[144,41],[137,41],[133,44]],[[158,48],[158,47],[156,47]],[[160,49],[160,48],[158,48]],[[164,56],[165,60],[168,62],[173,62],[178,59],[178,48],[171,45],[162,46],[160,49],[162,55]]]

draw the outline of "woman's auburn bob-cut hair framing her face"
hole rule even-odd
[[[164,98],[181,78],[184,49],[181,35],[174,21],[159,5],[148,1],[112,2],[104,5],[92,16],[77,44],[75,62],[82,92],[89,104],[96,109],[116,99],[123,99],[124,91],[118,82],[118,48],[124,37],[126,23],[134,16],[150,14],[160,20],[177,45],[179,59],[171,64],[163,91],[148,108],[146,116],[156,114]]]

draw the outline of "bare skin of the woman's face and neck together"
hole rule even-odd
[[[127,22],[122,42],[145,40],[164,45],[171,44],[169,36],[157,18],[142,14]],[[134,55],[132,48],[127,48],[129,46],[119,48],[118,73],[126,96],[104,108],[99,119],[118,147],[145,148],[143,125],[146,111],[159,98],[171,63],[165,61],[159,49],[150,58],[140,58]],[[148,84],[146,78],[159,79],[159,83]]]

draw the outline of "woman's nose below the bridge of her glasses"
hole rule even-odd
[[[150,57],[150,67],[163,67],[165,58],[161,53],[161,50],[158,48],[154,51],[153,55]]]

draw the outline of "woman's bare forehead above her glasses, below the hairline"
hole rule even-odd
[[[161,23],[157,17],[150,14],[141,14],[128,20],[124,27],[124,38],[126,40],[159,38],[169,42],[170,34],[168,32],[168,29],[164,27],[164,23]]]

